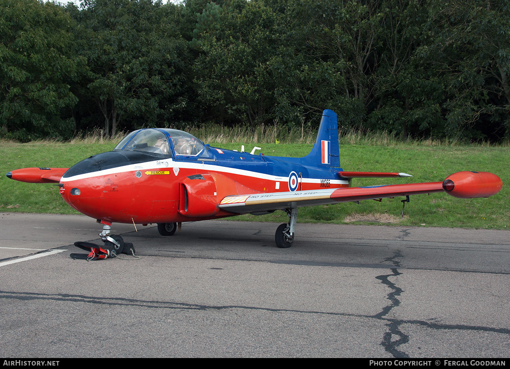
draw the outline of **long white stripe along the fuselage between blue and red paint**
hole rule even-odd
[[[231,173],[231,174],[237,174],[237,175],[243,175],[246,177],[256,177],[260,179],[266,179],[266,180],[272,180],[272,181],[288,181],[289,177],[282,177],[282,176],[276,176],[271,174],[265,174],[260,172],[253,172],[245,169],[238,169],[238,168],[228,168],[223,167],[220,165],[210,165],[205,164],[203,162],[199,163],[190,163],[190,162],[174,162],[172,159],[167,160],[155,160],[151,162],[145,162],[145,163],[138,163],[138,164],[130,164],[125,165],[122,167],[115,167],[105,170],[99,170],[97,172],[91,172],[91,173],[85,173],[85,174],[79,174],[72,177],[64,178],[62,177],[60,179],[61,182],[70,182],[73,180],[80,180],[80,179],[86,179],[86,178],[93,178],[97,176],[103,176],[103,175],[112,175],[117,173],[126,173],[126,172],[133,172],[133,171],[144,171],[149,169],[155,169],[155,168],[184,168],[184,169],[195,169],[195,170],[204,170],[204,171],[211,171],[211,172],[222,172],[222,173]],[[303,183],[320,183],[321,179],[324,178],[299,178],[299,182]],[[341,179],[329,179],[329,182],[331,184],[348,184],[349,181],[341,180]]]

